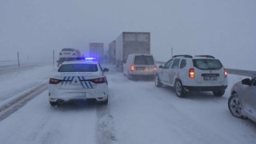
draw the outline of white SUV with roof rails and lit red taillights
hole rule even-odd
[[[222,96],[227,87],[227,72],[222,63],[210,55],[175,55],[155,73],[155,86],[174,86],[178,97],[190,90],[212,91]]]

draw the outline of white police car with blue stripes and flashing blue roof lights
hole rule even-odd
[[[104,68],[95,58],[63,62],[49,80],[49,101],[51,106],[73,100],[94,99],[108,103],[108,83]]]

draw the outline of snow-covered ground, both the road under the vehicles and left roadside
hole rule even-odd
[[[229,75],[226,94],[191,93],[178,98],[153,81],[129,81],[108,66],[108,106],[71,103],[51,107],[47,90],[0,122],[0,143],[256,143],[256,124],[234,118],[227,98],[242,76]],[[0,106],[46,82],[53,66],[0,75]]]

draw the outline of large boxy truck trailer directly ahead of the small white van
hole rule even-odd
[[[122,32],[118,36],[115,64],[121,70],[129,54],[150,54],[150,32]]]

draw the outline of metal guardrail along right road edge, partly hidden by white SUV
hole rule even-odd
[[[158,65],[162,65],[165,62],[156,62]],[[256,71],[253,70],[238,70],[238,69],[229,69],[226,68],[228,74],[236,74],[236,75],[242,75],[242,76],[248,76],[248,77],[255,77]]]

